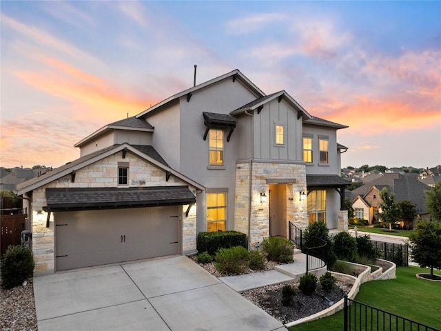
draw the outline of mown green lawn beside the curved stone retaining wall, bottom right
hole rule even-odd
[[[441,329],[441,283],[417,279],[418,267],[399,267],[397,279],[368,281],[361,285],[356,301]],[[435,270],[441,275],[441,271]],[[343,312],[289,328],[291,331],[342,330]]]

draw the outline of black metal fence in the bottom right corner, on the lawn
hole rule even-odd
[[[347,294],[345,294],[343,319],[343,331],[441,331],[371,305],[351,300]]]

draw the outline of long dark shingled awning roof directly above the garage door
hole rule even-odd
[[[96,210],[195,203],[187,186],[46,188],[48,210]]]

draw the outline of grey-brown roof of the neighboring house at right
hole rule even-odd
[[[356,199],[358,195],[365,197],[373,188],[376,188],[378,191],[387,188],[389,194],[395,194],[395,200],[397,202],[403,200],[411,201],[416,204],[418,212],[426,212],[424,191],[430,190],[430,187],[414,177],[398,173],[383,174],[381,177],[353,190],[351,192],[351,200]]]

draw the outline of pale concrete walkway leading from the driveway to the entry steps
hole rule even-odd
[[[311,273],[316,274],[316,277],[320,277],[325,272],[326,267],[311,271]],[[293,263],[277,265],[274,270],[220,277],[219,279],[236,292],[243,292],[285,281],[298,281],[304,274],[306,274],[306,254],[297,252],[297,254],[294,254]]]

